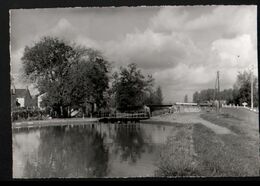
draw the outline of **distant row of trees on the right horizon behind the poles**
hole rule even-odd
[[[257,78],[253,77],[253,102],[258,106]],[[205,89],[193,94],[193,102],[201,103],[215,99],[225,100],[227,104],[242,105],[243,102],[251,106],[251,73],[249,71],[239,72],[233,88],[224,89],[217,93],[215,89]]]

